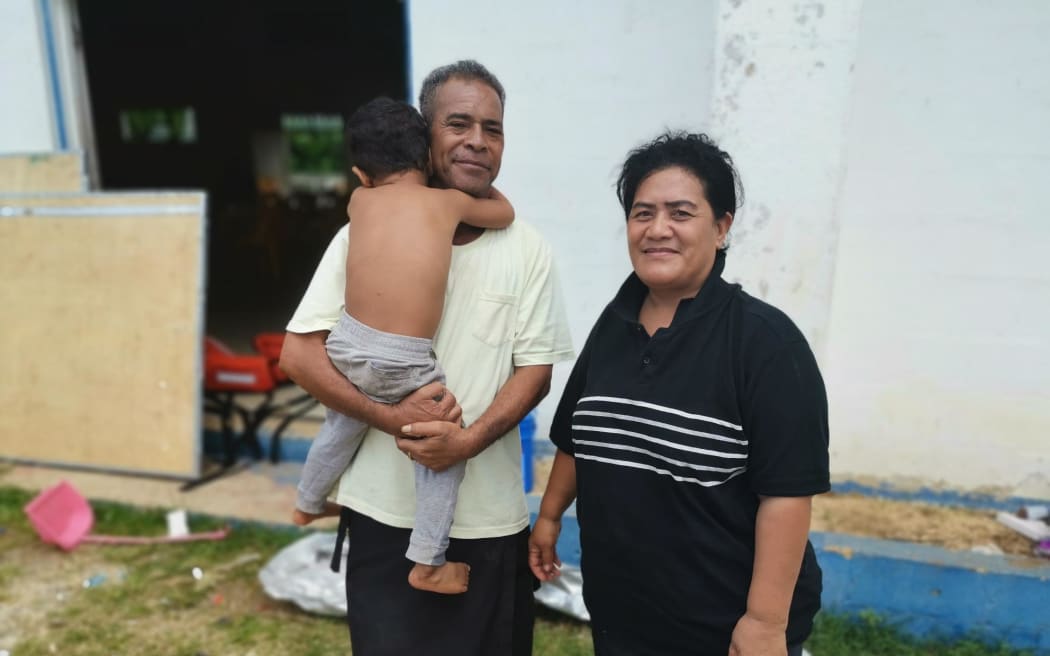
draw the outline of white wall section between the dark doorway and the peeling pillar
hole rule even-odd
[[[578,351],[630,272],[613,190],[620,165],[665,128],[700,129],[708,122],[715,5],[410,3],[414,92],[430,69],[467,58],[506,87],[498,186],[553,247]],[[464,17],[472,18],[460,22]],[[554,369],[538,437],[548,433],[570,369],[571,363]]]

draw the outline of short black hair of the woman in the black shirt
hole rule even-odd
[[[616,196],[624,208],[624,216],[631,215],[634,194],[647,177],[674,167],[692,173],[700,181],[715,219],[727,213],[736,214],[743,199],[743,188],[729,153],[707,134],[665,132],[632,150],[624,162],[616,181]]]

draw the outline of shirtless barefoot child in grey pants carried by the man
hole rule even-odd
[[[505,228],[513,208],[495,189],[474,198],[426,186],[429,133],[410,105],[386,98],[358,109],[348,126],[354,173],[350,197],[345,312],[329,335],[333,364],[370,398],[396,403],[444,372],[432,350],[441,319],[460,223]],[[328,410],[310,447],[293,521],[328,514],[327,498],[360,446],[369,426]],[[465,592],[469,566],[445,560],[448,531],[465,463],[435,472],[416,463],[416,519],[405,555],[416,566],[414,588]]]

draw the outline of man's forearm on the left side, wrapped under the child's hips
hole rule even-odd
[[[281,371],[327,407],[391,435],[412,422],[460,421],[463,408],[441,383],[424,385],[392,405],[364,396],[332,364],[324,350],[327,337],[326,331],[287,333],[280,352]]]

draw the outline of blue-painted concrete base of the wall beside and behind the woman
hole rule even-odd
[[[539,498],[529,496],[533,522],[538,509]],[[872,611],[919,637],[976,638],[1050,655],[1050,563],[840,533],[810,539],[827,611]],[[558,555],[580,567],[574,512],[562,519]]]

